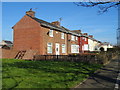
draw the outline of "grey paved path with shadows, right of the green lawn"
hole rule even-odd
[[[75,88],[78,88],[78,90],[80,88],[100,88],[100,90],[109,88],[111,90],[120,90],[119,69],[120,59],[112,60],[109,64],[102,67],[99,71],[89,77],[85,82],[76,86]]]

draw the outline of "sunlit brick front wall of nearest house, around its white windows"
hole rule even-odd
[[[60,55],[67,55],[67,34],[64,33],[65,37],[64,39],[61,39],[61,33],[60,31],[53,30],[53,37],[49,36],[49,28],[41,27],[41,30],[43,30],[43,54],[44,55],[56,55],[56,43],[59,44],[59,54]],[[47,44],[52,43],[52,53],[47,52]],[[66,53],[62,53],[62,44],[66,45]]]

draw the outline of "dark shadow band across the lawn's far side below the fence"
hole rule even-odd
[[[43,63],[42,63],[43,62]],[[52,63],[51,63],[52,62]],[[82,73],[82,74],[87,74],[87,75],[91,75],[91,73],[94,72],[94,70],[90,70],[91,68],[98,68],[98,67],[95,67],[93,65],[90,65],[90,64],[86,64],[86,63],[64,63],[64,62],[54,62],[54,61],[28,61],[28,62],[14,62],[14,63],[4,63],[3,67],[17,67],[17,68],[24,68],[24,69],[38,69],[38,70],[42,70],[44,72],[50,72],[50,73],[74,73],[74,74],[79,74],[79,73]],[[60,63],[60,64],[58,64]],[[64,69],[66,70],[63,70],[63,69],[58,69],[57,67],[61,67],[62,66],[64,67]],[[77,69],[77,70],[74,70],[74,69],[71,69],[71,70],[67,70],[69,68],[74,68],[74,69]],[[89,69],[90,68],[90,69]],[[88,72],[88,73],[85,73],[84,71]]]

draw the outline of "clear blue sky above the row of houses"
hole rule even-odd
[[[12,27],[30,8],[39,19],[53,22],[62,18],[61,26],[82,30],[99,41],[116,44],[117,8],[99,15],[98,7],[81,7],[73,2],[2,2],[2,40],[13,41]]]

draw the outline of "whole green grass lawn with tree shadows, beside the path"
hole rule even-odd
[[[2,60],[3,88],[72,88],[99,64],[66,61]]]

